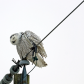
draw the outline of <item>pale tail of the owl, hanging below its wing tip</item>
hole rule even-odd
[[[47,63],[44,61],[44,59],[40,56],[40,54],[37,54],[36,55],[37,56],[37,58],[38,58],[38,60],[37,60],[37,62],[36,61],[34,61],[34,64],[36,65],[36,66],[38,66],[38,67],[46,67],[47,66]],[[33,62],[33,61],[32,61]]]

